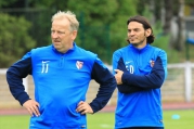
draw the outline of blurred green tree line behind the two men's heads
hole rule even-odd
[[[176,53],[184,51],[179,12],[182,4],[193,3],[190,0],[1,0],[0,68],[9,67],[33,48],[51,44],[51,16],[60,10],[70,10],[77,15],[80,27],[76,43],[98,53],[107,64],[112,63],[116,49],[128,44],[127,20],[133,15],[144,15],[151,21],[157,39],[153,46],[169,51],[170,62],[178,62]],[[169,29],[172,17],[178,18],[180,31],[176,40],[171,40]]]

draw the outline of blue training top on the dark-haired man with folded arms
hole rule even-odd
[[[164,127],[160,87],[167,76],[166,52],[129,44],[114,52],[113,69],[124,72],[122,85],[117,86],[115,128]]]

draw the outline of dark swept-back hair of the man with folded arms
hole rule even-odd
[[[129,20],[127,21],[127,25],[129,25],[130,22],[141,23],[143,25],[144,29],[151,28],[152,34],[151,34],[151,36],[148,36],[146,38],[146,40],[147,40],[147,43],[150,43],[150,44],[154,42],[155,37],[154,37],[154,34],[153,34],[152,26],[151,26],[151,24],[148,23],[148,21],[144,16],[137,15],[137,16],[129,17]],[[129,42],[129,39],[127,39],[127,41]]]

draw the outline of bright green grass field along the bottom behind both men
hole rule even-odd
[[[26,115],[0,116],[0,129],[28,129],[28,120]],[[164,111],[165,129],[194,129],[193,121],[194,109]],[[114,113],[88,115],[88,129],[114,129]]]

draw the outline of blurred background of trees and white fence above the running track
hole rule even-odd
[[[0,109],[22,108],[5,80],[7,68],[33,48],[51,44],[51,17],[73,11],[80,23],[76,43],[98,53],[112,69],[112,54],[128,44],[127,20],[143,15],[152,24],[155,42],[168,54],[163,103],[194,101],[194,1],[192,0],[0,0]],[[34,98],[33,78],[24,79]],[[90,102],[99,86],[92,80]],[[117,90],[108,105],[115,106]]]

